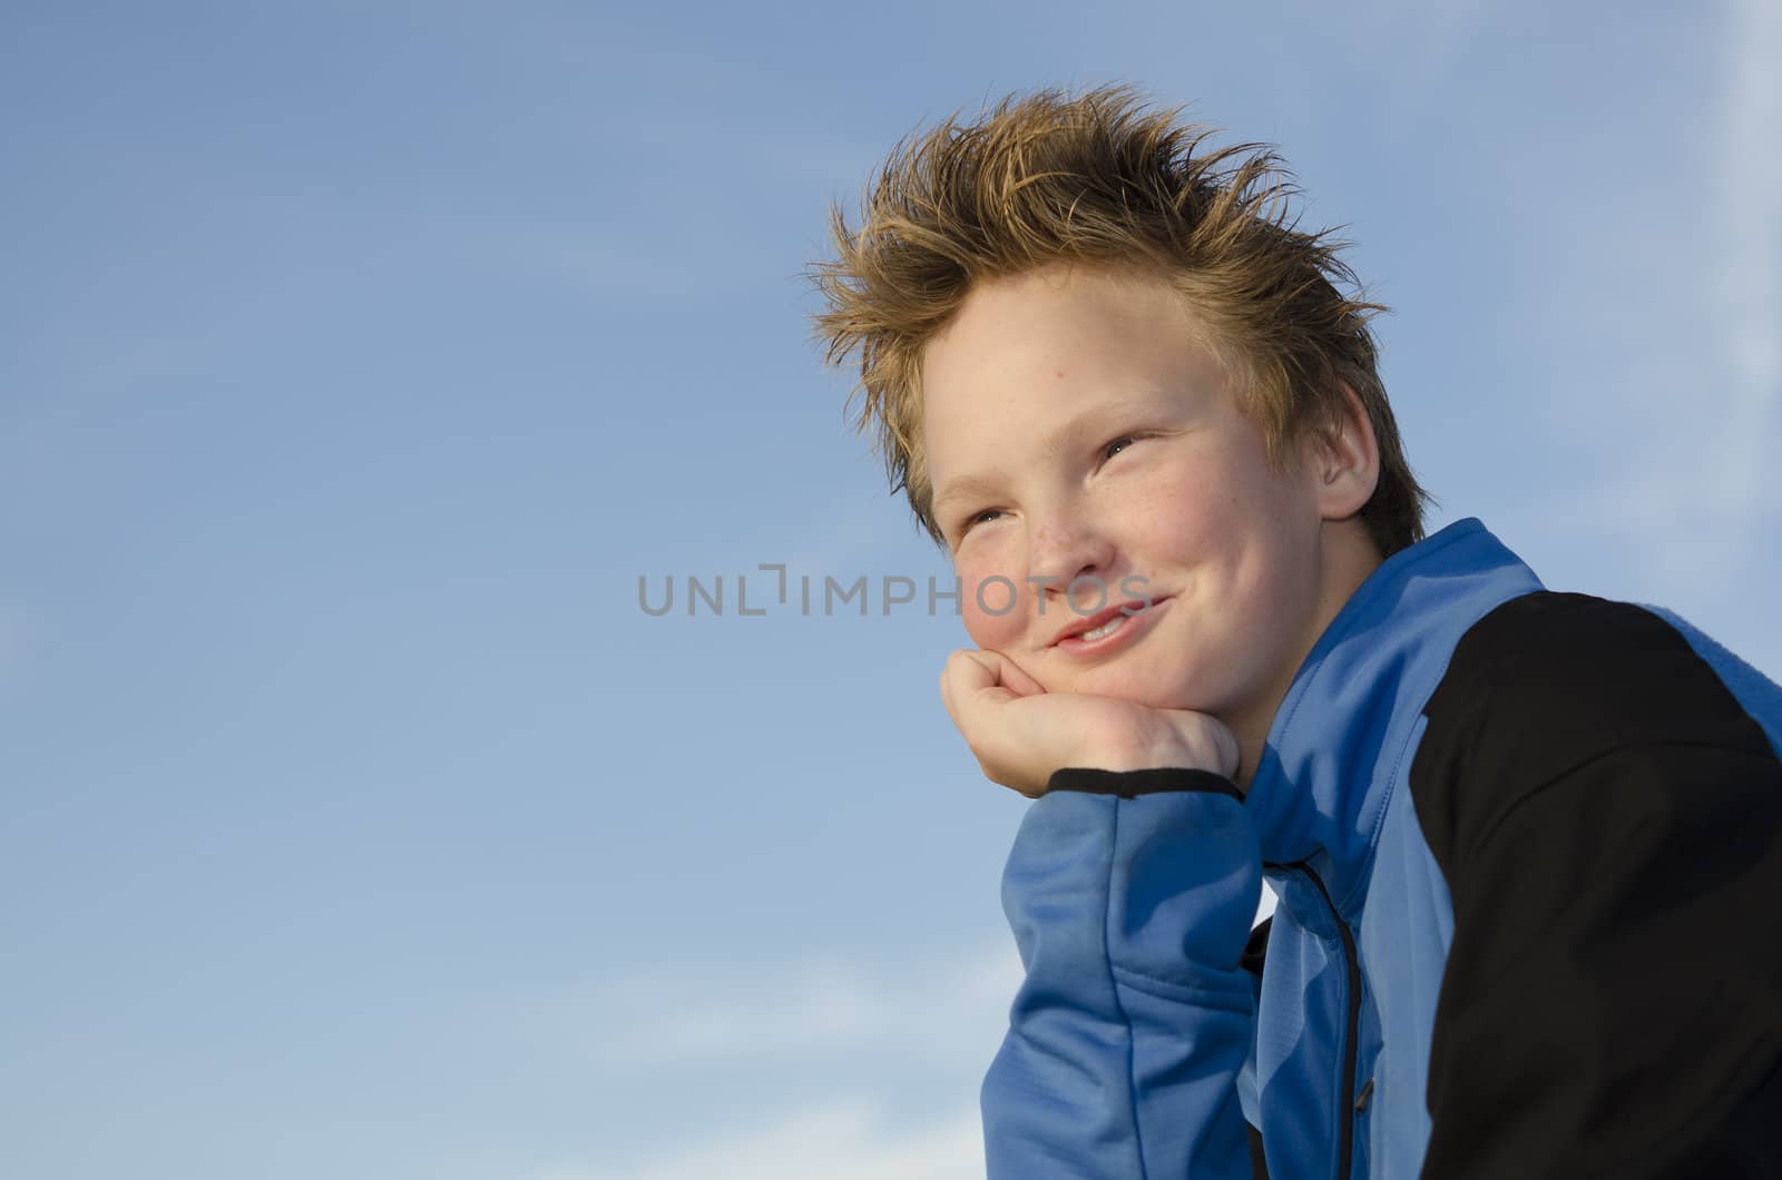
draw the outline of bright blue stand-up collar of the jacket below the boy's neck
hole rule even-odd
[[[1310,888],[1287,872],[1296,863],[1317,873],[1345,920],[1358,916],[1424,702],[1461,635],[1533,590],[1541,590],[1534,570],[1467,517],[1383,561],[1319,636],[1274,713],[1244,802],[1269,879],[1296,916],[1310,916],[1297,911],[1315,897],[1296,888]]]

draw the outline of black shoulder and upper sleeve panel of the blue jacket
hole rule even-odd
[[[1549,592],[1475,624],[1426,713],[1411,799],[1454,941],[1424,1176],[1782,1176],[1757,722],[1657,615]]]

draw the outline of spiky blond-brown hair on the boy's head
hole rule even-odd
[[[1379,483],[1361,520],[1392,556],[1424,537],[1424,501],[1376,371],[1360,283],[1344,242],[1303,234],[1296,193],[1263,144],[1203,152],[1210,128],[1151,112],[1110,86],[1069,96],[1010,94],[971,125],[955,118],[900,141],[862,198],[861,228],[830,210],[832,260],[811,267],[829,364],[859,351],[855,428],[877,426],[893,490],[944,549],[921,447],[921,353],[973,283],[1055,264],[1137,267],[1167,282],[1242,390],[1276,471],[1292,444],[1361,399]]]

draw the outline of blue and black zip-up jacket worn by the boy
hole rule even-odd
[[[1782,1175],[1778,750],[1782,690],[1670,611],[1475,519],[1394,554],[1247,793],[1026,811],[989,1176]]]

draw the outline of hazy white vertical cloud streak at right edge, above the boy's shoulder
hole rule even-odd
[[[1650,344],[1654,324],[1620,324],[1632,333],[1622,348],[1645,337],[1643,367],[1618,374],[1613,414],[1588,405],[1575,426],[1591,438],[1618,424],[1638,428],[1611,435],[1614,472],[1563,513],[1616,531],[1639,554],[1643,594],[1679,604],[1707,604],[1748,585],[1753,553],[1782,522],[1764,487],[1768,455],[1782,446],[1782,162],[1766,146],[1782,141],[1782,75],[1773,70],[1782,61],[1782,9],[1736,0],[1727,12],[1713,171],[1696,182],[1709,200],[1679,228],[1700,266],[1670,273],[1679,303],[1700,308],[1682,324],[1682,339],[1696,344],[1666,349],[1663,337]],[[1604,273],[1614,273],[1625,242],[1641,232],[1609,230],[1597,253]],[[1689,257],[1684,250],[1677,262]]]

